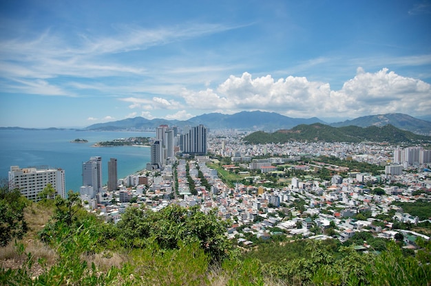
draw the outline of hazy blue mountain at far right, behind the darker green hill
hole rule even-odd
[[[353,120],[346,120],[344,122],[335,122],[330,124],[333,127],[341,126],[384,126],[386,124],[392,124],[393,126],[411,131],[418,134],[430,134],[431,133],[431,122],[414,118],[410,115],[402,113],[387,113],[378,115],[368,115],[355,118]]]

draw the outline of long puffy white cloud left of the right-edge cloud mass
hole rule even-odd
[[[240,78],[230,76],[216,91],[182,92],[188,105],[200,109],[261,109],[281,113],[317,107],[317,100],[328,98],[329,94],[328,83],[309,82],[306,78],[293,76],[276,81],[270,75],[253,79],[247,72]]]

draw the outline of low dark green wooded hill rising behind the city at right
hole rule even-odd
[[[386,124],[384,126],[344,126],[333,127],[325,124],[301,124],[289,130],[274,133],[257,131],[244,137],[251,144],[285,143],[289,141],[308,142],[431,142],[431,136],[417,135]]]

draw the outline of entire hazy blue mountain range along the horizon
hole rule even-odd
[[[143,117],[127,118],[113,122],[98,123],[87,126],[86,130],[145,130],[154,131],[161,124],[169,126],[196,126],[204,124],[209,129],[239,129],[248,131],[266,131],[272,132],[280,129],[292,129],[299,124],[327,124],[319,118],[290,118],[275,112],[264,111],[242,111],[235,114],[223,113],[206,113],[195,116],[189,120],[165,120],[165,119],[146,119]],[[327,124],[333,127],[341,126],[384,126],[391,124],[398,129],[411,131],[417,134],[430,134],[431,122],[414,118],[402,113],[387,113],[379,115],[368,115],[346,120],[344,122],[335,122]]]

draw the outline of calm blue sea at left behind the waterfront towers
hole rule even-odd
[[[10,166],[51,167],[65,170],[66,192],[78,192],[83,183],[82,164],[102,157],[102,180],[107,184],[107,162],[117,159],[118,179],[145,169],[150,148],[145,146],[94,147],[97,142],[128,137],[155,137],[153,132],[81,131],[73,129],[0,130],[0,180],[8,179]],[[86,143],[72,143],[85,139]]]

